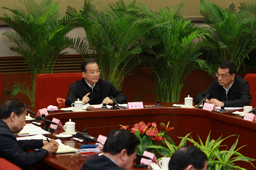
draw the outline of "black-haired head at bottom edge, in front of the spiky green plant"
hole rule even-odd
[[[180,147],[169,161],[169,170],[207,170],[207,156],[193,145]]]

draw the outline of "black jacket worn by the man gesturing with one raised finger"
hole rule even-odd
[[[103,100],[109,96],[113,96],[119,104],[127,103],[127,97],[122,94],[121,91],[118,91],[111,82],[99,79],[92,90],[92,88],[85,82],[84,78],[82,78],[80,81],[76,81],[70,85],[65,105],[71,106],[77,99],[81,101],[89,92],[90,94],[88,97],[90,98],[90,101],[88,103],[90,105],[101,104]]]

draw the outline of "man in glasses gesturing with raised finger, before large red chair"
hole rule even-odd
[[[101,70],[95,59],[85,59],[81,64],[81,71],[84,78],[70,85],[65,105],[71,106],[78,99],[83,102],[83,105],[86,103],[108,105],[113,103],[109,96],[113,96],[117,103],[127,102],[127,97],[111,82],[99,78]]]

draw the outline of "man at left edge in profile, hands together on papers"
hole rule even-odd
[[[56,153],[58,142],[51,139],[19,140],[14,134],[19,133],[26,125],[26,105],[17,99],[9,99],[0,107],[0,158],[4,158],[22,169],[30,167],[44,159],[48,154]],[[26,153],[26,150],[34,150]]]

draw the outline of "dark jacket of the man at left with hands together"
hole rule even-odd
[[[17,141],[9,126],[0,119],[0,158],[4,158],[25,169],[47,156],[48,151],[42,149],[41,147],[43,146],[43,140]],[[39,150],[26,153],[26,150],[29,149]]]

